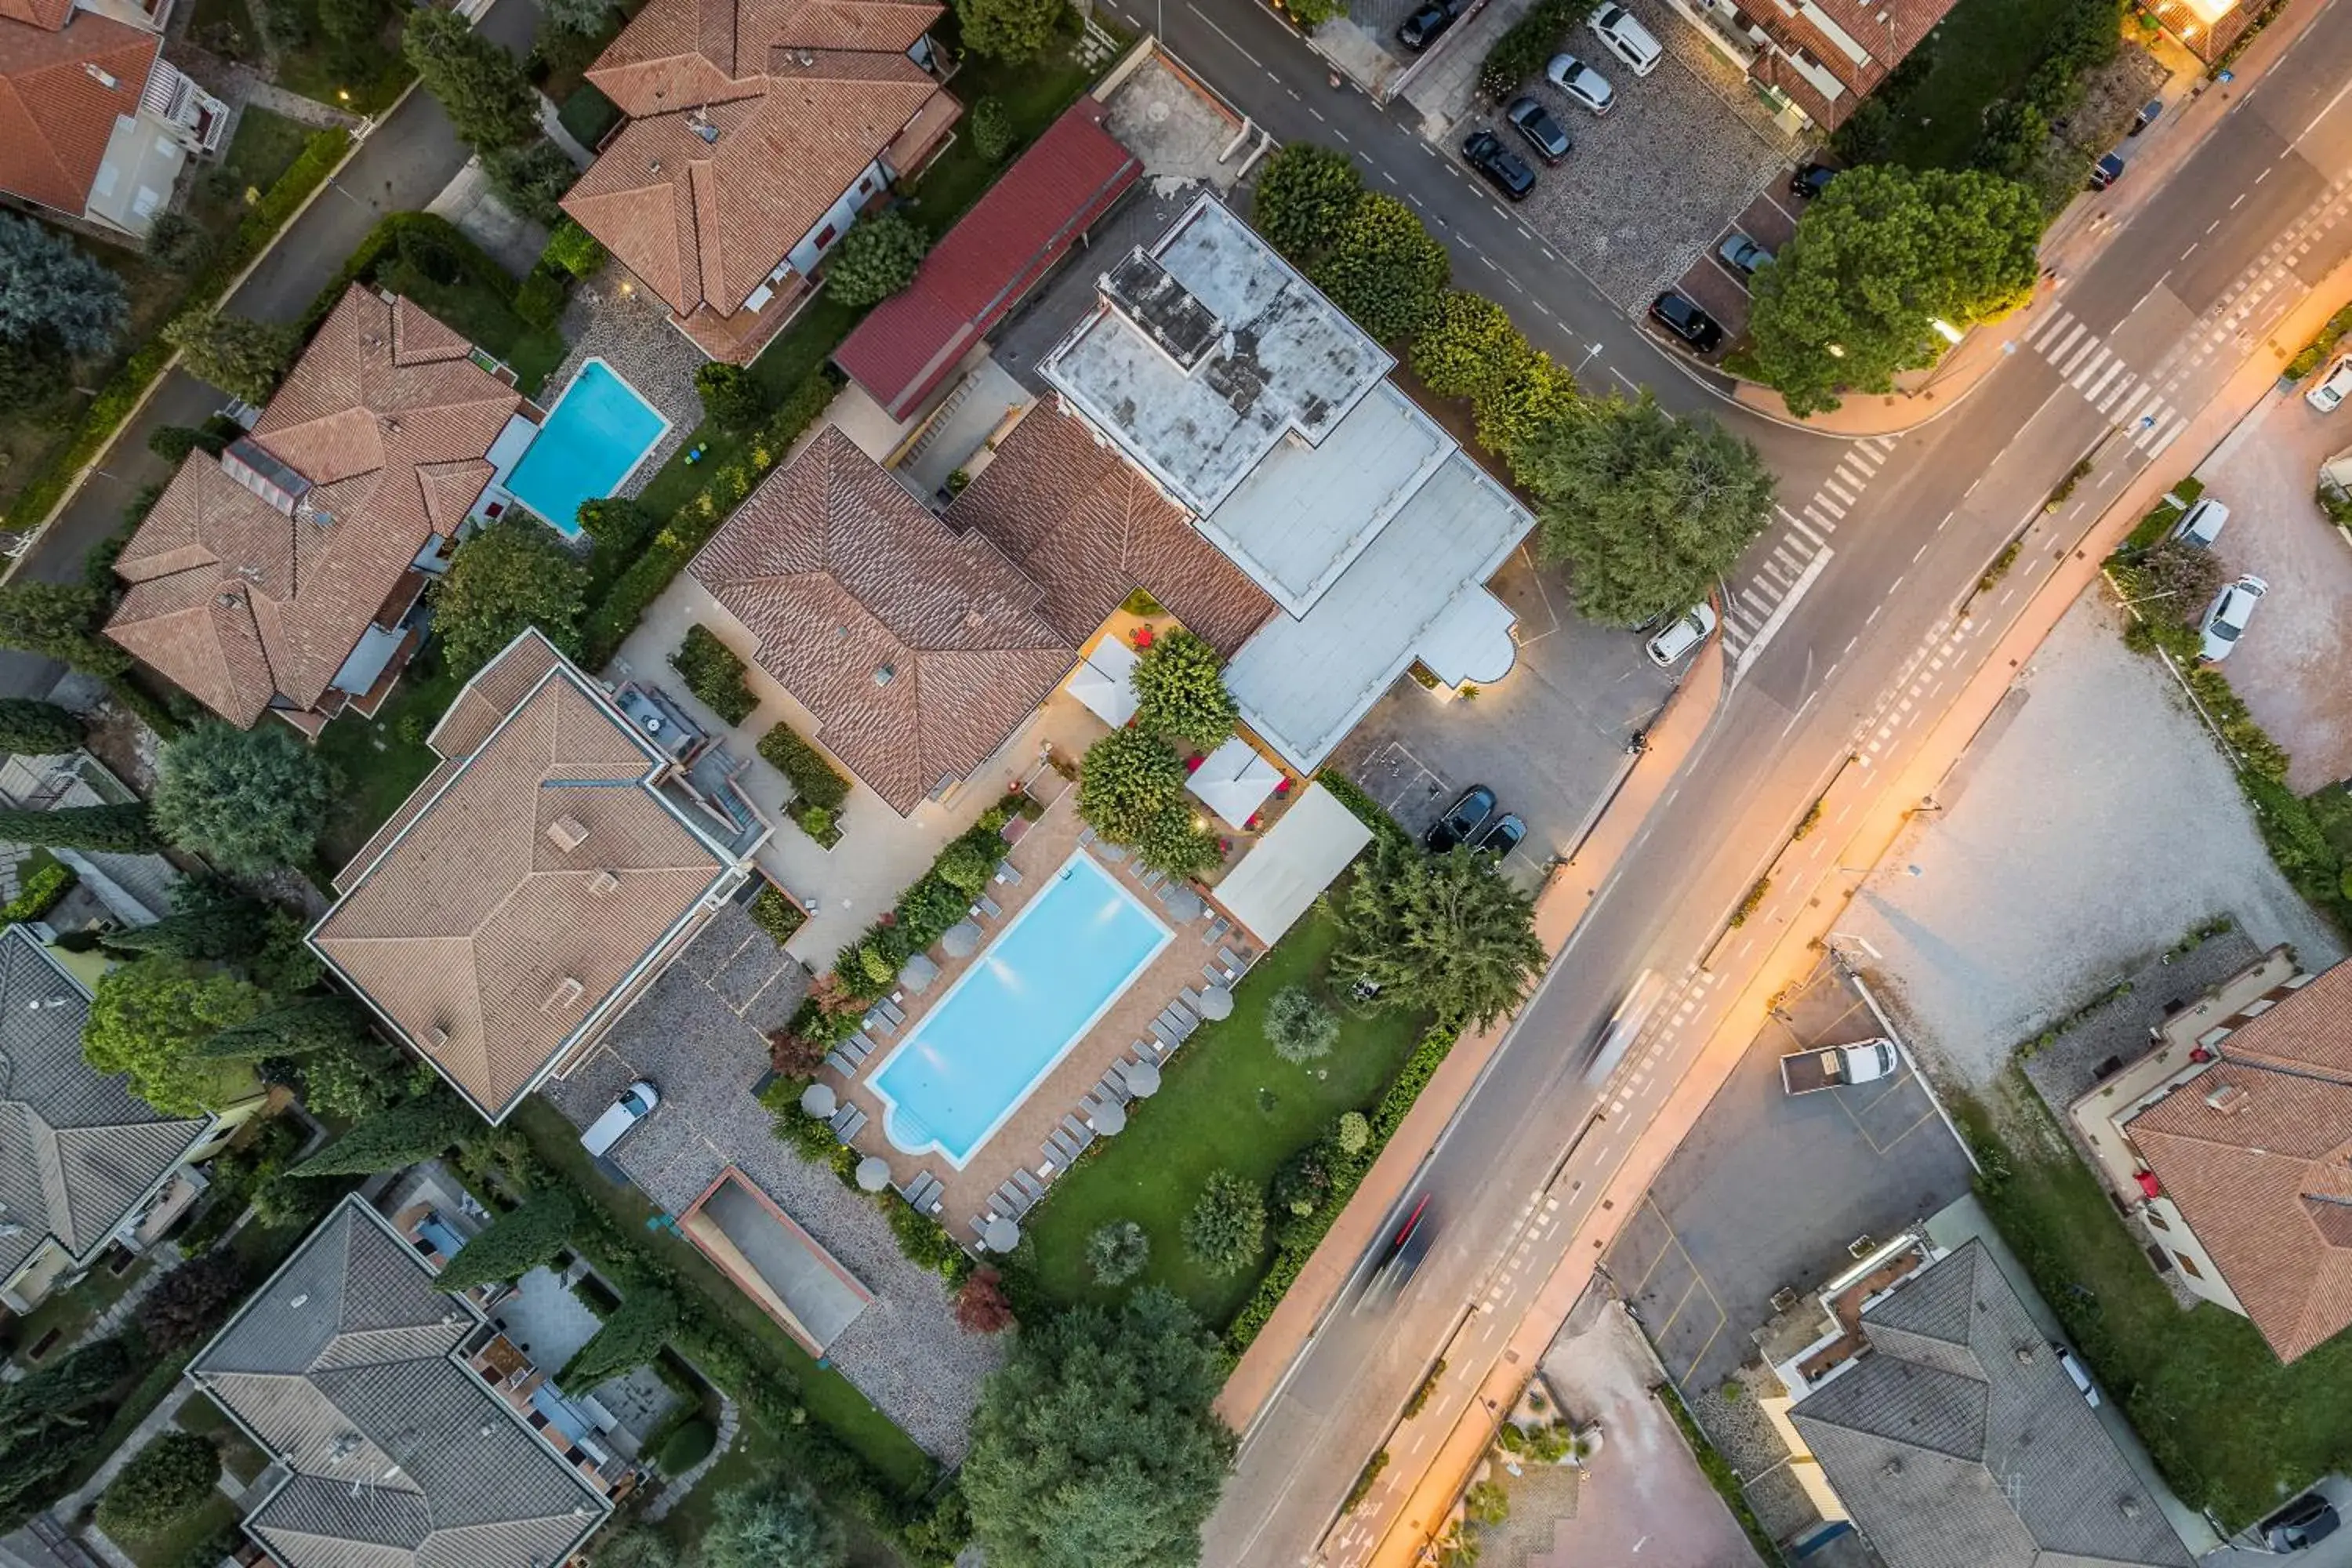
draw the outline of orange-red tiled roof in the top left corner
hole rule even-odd
[[[40,19],[49,9],[56,21]],[[80,216],[115,120],[139,113],[162,40],[66,9],[0,0],[0,190]]]

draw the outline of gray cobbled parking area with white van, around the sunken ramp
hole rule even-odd
[[[943,1281],[906,1260],[875,1199],[779,1143],[750,1098],[767,1072],[762,1032],[790,1018],[807,985],[807,971],[729,905],[588,1063],[548,1081],[546,1095],[574,1126],[588,1126],[623,1084],[652,1079],[661,1110],[612,1161],[670,1213],[727,1166],[776,1199],[875,1293],[828,1347],[833,1366],[931,1458],[955,1465],[981,1380],[1004,1361],[1002,1338],[957,1328]]]

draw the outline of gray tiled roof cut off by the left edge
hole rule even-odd
[[[0,931],[0,1281],[47,1239],[89,1260],[212,1128],[82,1060],[87,1016],[24,926]]]

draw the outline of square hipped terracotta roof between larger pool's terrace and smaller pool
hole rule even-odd
[[[1037,585],[826,425],[694,557],[818,738],[901,813],[967,778],[1077,663]]]

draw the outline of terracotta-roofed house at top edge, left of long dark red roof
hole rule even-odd
[[[652,0],[588,68],[628,122],[564,212],[696,348],[748,364],[858,212],[946,148],[943,9]]]

